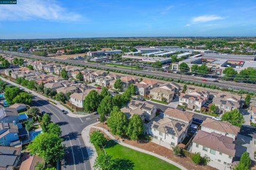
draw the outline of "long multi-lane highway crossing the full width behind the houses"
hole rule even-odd
[[[102,64],[97,64],[97,63],[88,63],[86,61],[55,59],[55,58],[50,58],[50,57],[29,55],[29,54],[25,54],[25,53],[17,53],[17,52],[9,52],[9,51],[2,51],[1,53],[15,55],[15,56],[22,56],[22,57],[27,57],[27,58],[35,58],[37,60],[66,62],[68,64],[80,64],[80,65],[84,65],[84,66],[100,67],[102,69],[115,69],[115,70],[125,71],[125,72],[154,75],[156,77],[167,77],[167,78],[173,78],[173,79],[180,79],[179,74],[173,74],[173,73],[153,72],[153,71],[146,71],[146,70],[131,70],[131,69],[114,67],[114,66],[109,66],[109,65],[102,65]],[[202,79],[204,79],[204,78],[195,77],[195,76],[191,76],[191,75],[182,75],[182,80],[185,80],[185,81],[193,81],[193,82],[202,83],[203,82]],[[232,88],[232,89],[236,89],[236,90],[244,89],[247,91],[256,91],[256,84],[237,83],[237,82],[230,82],[230,81],[213,82],[213,80],[211,80],[211,79],[207,79],[207,81],[206,82],[204,81],[204,83],[209,84],[209,85],[216,85],[221,88]]]

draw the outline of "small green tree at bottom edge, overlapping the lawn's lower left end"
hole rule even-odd
[[[93,167],[95,169],[112,170],[114,168],[114,164],[114,159],[111,155],[105,154],[105,152],[100,152],[95,159]]]

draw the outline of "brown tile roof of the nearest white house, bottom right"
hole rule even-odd
[[[235,144],[233,143],[233,138],[226,137],[214,132],[208,133],[199,130],[193,139],[193,142],[197,143],[198,145],[217,150],[223,154],[227,154],[232,157],[235,156],[236,150]]]

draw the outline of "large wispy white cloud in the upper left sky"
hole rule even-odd
[[[69,12],[56,1],[50,0],[23,0],[17,5],[1,5],[0,21],[27,21],[27,20],[49,20],[49,21],[78,21],[82,15]]]

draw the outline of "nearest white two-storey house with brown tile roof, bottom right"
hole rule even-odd
[[[193,139],[191,152],[210,158],[210,166],[226,170],[231,169],[236,150],[232,138],[199,130]]]

